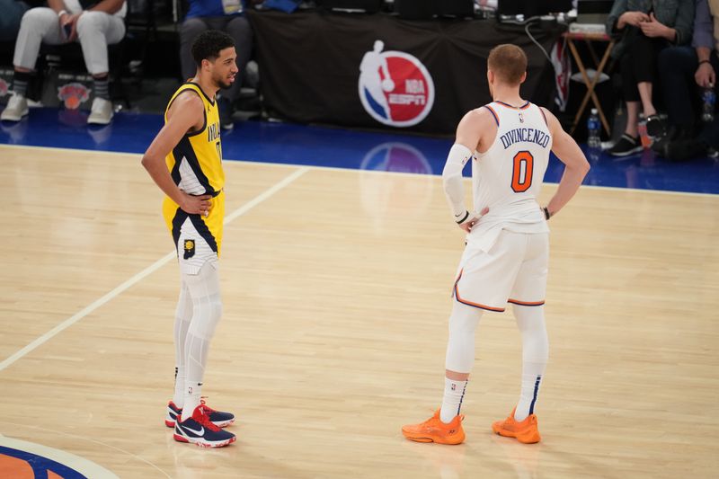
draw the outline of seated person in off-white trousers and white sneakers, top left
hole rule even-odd
[[[91,6],[85,9],[87,5]],[[107,125],[112,120],[107,46],[125,36],[125,0],[48,0],[48,6],[31,8],[22,15],[13,58],[13,96],[0,120],[20,121],[28,114],[25,93],[41,43],[59,45],[76,40],[83,49],[85,67],[93,75],[95,98],[87,122]]]

